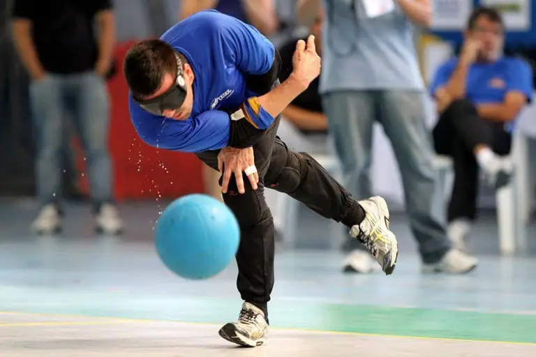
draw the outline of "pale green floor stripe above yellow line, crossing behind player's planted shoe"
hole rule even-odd
[[[239,301],[228,299],[178,298],[165,302],[148,299],[126,305],[117,301],[86,301],[78,306],[54,304],[13,310],[225,324],[237,318],[239,305]],[[536,344],[535,315],[274,301],[270,303],[269,318],[275,328]]]

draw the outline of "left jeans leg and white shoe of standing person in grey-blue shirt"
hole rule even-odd
[[[374,95],[368,91],[337,91],[322,98],[327,114],[329,133],[333,136],[343,169],[343,184],[353,197],[371,196],[369,169],[373,123]],[[366,248],[355,239],[348,239],[343,270],[369,273],[378,268]]]

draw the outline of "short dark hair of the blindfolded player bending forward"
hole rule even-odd
[[[165,73],[177,73],[173,47],[163,40],[144,40],[128,50],[124,61],[124,75],[133,96],[146,98],[158,91]],[[179,54],[183,63],[187,63]]]

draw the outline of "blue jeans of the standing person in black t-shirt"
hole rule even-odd
[[[112,167],[108,151],[109,102],[105,80],[94,73],[48,74],[30,85],[37,137],[36,181],[41,204],[58,202],[64,172],[64,121],[71,114],[84,149],[94,204],[112,201]]]

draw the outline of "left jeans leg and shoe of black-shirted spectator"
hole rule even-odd
[[[37,136],[37,195],[42,206],[32,229],[42,234],[61,228],[59,197],[65,117],[62,86],[63,79],[53,75],[47,75],[30,85],[31,108]]]

